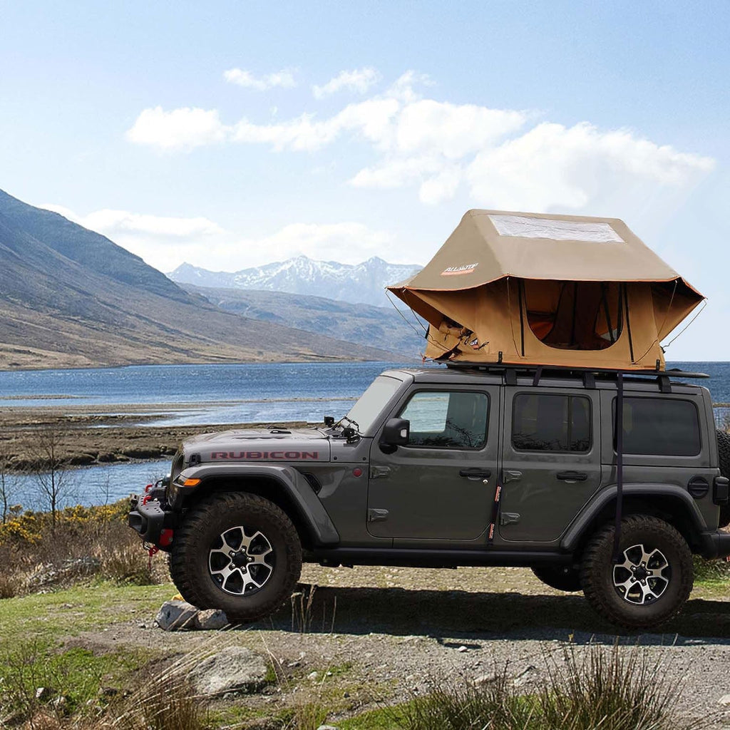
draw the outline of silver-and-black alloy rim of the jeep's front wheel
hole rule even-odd
[[[274,574],[274,548],[261,530],[244,525],[220,533],[208,553],[210,577],[231,596],[260,591]]]

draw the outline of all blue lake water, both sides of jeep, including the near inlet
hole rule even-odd
[[[161,404],[154,425],[308,420],[345,414],[373,378],[391,363],[287,363],[245,365],[151,365],[83,370],[0,372],[0,407]],[[730,403],[730,363],[677,362],[710,380],[712,401]],[[193,404],[180,410],[179,404]],[[164,412],[164,406],[170,412]],[[718,420],[728,409],[716,409]],[[169,461],[131,462],[74,469],[64,504],[114,502],[161,478]],[[33,477],[14,477],[13,502],[42,508]]]

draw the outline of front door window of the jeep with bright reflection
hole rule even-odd
[[[409,446],[480,449],[487,442],[486,393],[419,391],[401,411],[410,420]]]

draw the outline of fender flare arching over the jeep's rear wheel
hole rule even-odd
[[[616,501],[618,489],[616,485],[604,487],[599,493],[593,496],[591,502],[585,505],[583,511],[579,513],[577,518],[565,531],[561,539],[561,549],[575,550],[580,540],[585,535],[585,531],[591,526],[593,520],[605,509],[611,502]],[[694,497],[686,490],[676,484],[624,484],[623,499],[626,497],[646,497],[648,499],[657,499],[660,497],[669,497],[675,499],[687,510],[687,516],[691,526],[696,530],[697,538],[702,540],[702,534],[707,532],[707,524],[699,511]]]

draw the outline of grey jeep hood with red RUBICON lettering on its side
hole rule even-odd
[[[185,464],[230,461],[329,461],[330,444],[319,429],[245,429],[202,434],[183,442]]]

